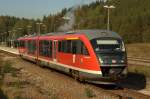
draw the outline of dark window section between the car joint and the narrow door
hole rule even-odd
[[[41,40],[39,45],[40,56],[52,57],[52,41]]]

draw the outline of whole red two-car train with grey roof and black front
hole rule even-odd
[[[79,80],[115,83],[127,75],[122,38],[107,30],[77,30],[18,39],[22,58]]]

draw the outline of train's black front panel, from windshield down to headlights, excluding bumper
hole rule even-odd
[[[123,64],[126,62],[124,43],[120,39],[93,39],[93,49],[101,64]]]

